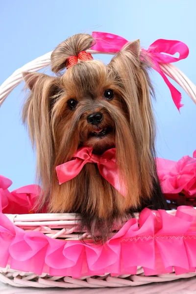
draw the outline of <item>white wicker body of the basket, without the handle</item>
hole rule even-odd
[[[168,211],[168,214],[175,215],[175,211]],[[138,214],[135,217],[138,219]],[[78,240],[77,225],[79,215],[76,214],[29,214],[29,215],[7,215],[6,217],[15,226],[22,228],[25,232],[40,231],[50,238],[61,238],[66,241]],[[82,234],[83,233],[83,234]],[[90,238],[86,232],[80,236]],[[143,237],[144,238],[144,237]],[[60,287],[60,288],[102,288],[102,287],[126,287],[149,284],[152,282],[165,282],[181,278],[190,278],[196,272],[189,272],[176,275],[173,273],[159,274],[156,276],[145,276],[142,267],[138,267],[134,275],[124,274],[111,276],[110,273],[104,275],[83,276],[72,278],[70,276],[51,276],[49,273],[41,275],[12,270],[9,266],[0,268],[0,281],[17,287]]]

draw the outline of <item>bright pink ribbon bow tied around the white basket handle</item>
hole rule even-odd
[[[108,53],[116,53],[120,51],[123,46],[128,42],[126,39],[104,32],[93,32],[93,38],[96,40],[96,44],[91,48],[93,50]],[[150,57],[153,69],[161,74],[167,86],[170,89],[173,102],[179,110],[183,104],[181,104],[180,92],[171,84],[165,73],[160,68],[161,63],[172,63],[186,58],[189,55],[189,48],[186,44],[180,41],[158,39],[152,43],[147,50],[142,49]],[[171,55],[179,53],[179,57],[173,57]],[[166,53],[166,54],[165,54]],[[167,55],[171,54],[171,55]]]

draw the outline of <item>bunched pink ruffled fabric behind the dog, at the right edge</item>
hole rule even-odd
[[[187,197],[196,197],[195,158],[184,156],[178,162],[157,158],[157,170],[164,194],[178,195],[183,191]]]

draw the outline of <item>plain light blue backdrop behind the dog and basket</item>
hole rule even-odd
[[[80,32],[105,31],[127,40],[140,39],[147,48],[155,40],[186,43],[187,59],[175,64],[196,83],[195,0],[0,0],[0,84],[25,63],[51,51],[67,37]],[[109,62],[109,56],[101,56]],[[178,160],[196,149],[196,105],[182,93],[181,114],[158,73],[152,74],[159,157]],[[0,108],[0,174],[12,188],[32,184],[35,155],[21,122],[24,84]]]

